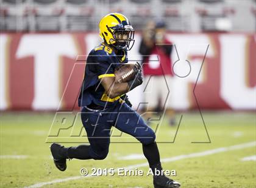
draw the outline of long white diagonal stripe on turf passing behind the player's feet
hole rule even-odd
[[[219,148],[212,149],[212,150],[206,150],[204,152],[190,153],[188,155],[173,156],[171,158],[162,159],[161,162],[162,163],[167,163],[167,162],[170,162],[170,161],[178,161],[180,159],[187,159],[187,158],[195,158],[195,157],[200,157],[200,156],[213,155],[215,153],[228,152],[228,151],[232,151],[232,150],[239,150],[239,149],[244,149],[244,148],[247,148],[247,147],[254,147],[254,146],[256,146],[256,141],[252,141],[250,143],[238,144],[238,145],[235,145],[235,146],[219,147]],[[144,167],[144,166],[148,166],[148,163],[135,164],[135,165],[124,167],[124,169],[130,170],[130,169],[135,169],[135,168]],[[116,170],[115,170],[115,172],[116,172]],[[49,184],[62,183],[62,182],[70,181],[70,180],[79,180],[79,179],[82,179],[82,178],[89,178],[89,177],[96,177],[96,176],[91,176],[91,174],[87,175],[87,176],[82,176],[82,175],[72,176],[72,177],[69,177],[69,178],[56,179],[56,180],[52,180],[52,181],[48,181],[48,182],[37,183],[37,184],[34,184],[32,186],[28,186],[28,187],[25,187],[25,188],[43,187],[43,186],[46,186],[46,185],[49,185]]]

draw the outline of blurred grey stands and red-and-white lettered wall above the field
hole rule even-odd
[[[183,79],[174,76],[173,88],[169,89],[174,109],[196,107],[193,88],[206,53],[195,90],[200,106],[255,110],[255,3],[1,1],[0,109],[72,108],[84,74],[82,63],[99,43],[99,20],[109,12],[121,12],[136,30],[130,59],[142,59],[138,47],[146,22],[163,19],[167,38],[177,49],[172,53],[172,65],[178,59],[177,54],[180,62],[185,59],[191,62],[190,75]],[[188,72],[185,64],[180,63],[179,69]],[[141,92],[142,87],[130,92],[134,107],[143,101]]]

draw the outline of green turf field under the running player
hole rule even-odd
[[[199,113],[183,113],[177,135],[177,126],[169,127],[163,120],[157,132],[158,142],[169,142],[158,144],[163,168],[176,170],[176,176],[171,178],[179,181],[182,187],[256,187],[256,161],[242,161],[256,155],[255,114],[203,112],[203,115],[211,143],[207,143],[208,136]],[[115,173],[113,176],[82,178],[80,175],[82,167],[91,173],[93,167],[118,169],[134,165],[134,168],[148,172],[148,167],[143,166],[146,159],[121,159],[142,154],[141,144],[126,143],[135,141],[127,135],[113,138],[113,141],[120,139],[123,143],[110,144],[106,159],[72,159],[67,162],[68,169],[60,172],[50,157],[50,144],[45,143],[54,113],[4,112],[0,118],[0,187],[34,184],[38,187],[152,187],[152,176],[118,176]],[[179,118],[180,114],[177,115]],[[170,143],[175,135],[175,142]],[[83,137],[79,138],[81,140],[87,141]],[[78,144],[66,143],[65,146]],[[57,179],[60,180],[55,181]]]

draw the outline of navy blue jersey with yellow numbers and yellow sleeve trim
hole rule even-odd
[[[119,55],[120,54],[120,55]],[[127,52],[115,52],[107,45],[101,44],[95,47],[87,57],[85,76],[80,89],[78,105],[88,106],[92,102],[98,106],[111,107],[119,102],[120,96],[109,98],[100,79],[107,76],[115,76],[116,67],[126,63]]]

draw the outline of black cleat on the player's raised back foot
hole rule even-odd
[[[62,155],[60,155],[60,149],[62,149],[64,146],[61,146],[60,144],[53,143],[50,146],[52,157],[54,158],[54,164],[60,171],[66,170],[66,158]]]

